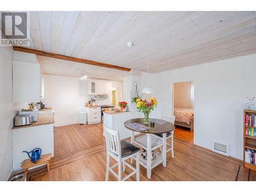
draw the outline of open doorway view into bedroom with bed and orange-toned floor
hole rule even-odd
[[[194,82],[173,83],[175,138],[194,143]]]

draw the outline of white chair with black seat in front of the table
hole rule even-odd
[[[140,163],[139,163],[139,151],[140,148],[134,146],[127,141],[120,141],[118,131],[109,129],[104,125],[104,136],[106,141],[106,177],[105,181],[109,180],[109,171],[118,179],[118,181],[124,181],[132,175],[136,174],[137,181],[140,180]],[[117,161],[116,164],[110,166],[110,156]],[[126,159],[136,157],[136,169],[125,162]],[[114,172],[113,168],[118,165],[118,175]],[[125,165],[130,167],[133,172],[122,179],[122,165],[123,171],[125,171]]]

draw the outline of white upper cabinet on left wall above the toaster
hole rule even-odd
[[[39,63],[13,60],[13,103],[29,103],[39,101]]]

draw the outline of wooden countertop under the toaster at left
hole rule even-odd
[[[38,125],[53,124],[53,123],[55,123],[53,113],[38,114],[36,122],[33,122],[30,125],[14,126],[12,127],[12,129],[19,129],[19,128],[25,128],[30,126],[38,126]]]

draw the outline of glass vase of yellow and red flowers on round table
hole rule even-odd
[[[148,98],[148,99],[136,99],[136,106],[139,112],[143,112],[144,114],[144,124],[149,124],[150,120],[150,112],[154,111],[154,108],[157,106],[156,98]]]

